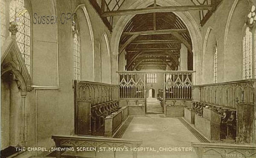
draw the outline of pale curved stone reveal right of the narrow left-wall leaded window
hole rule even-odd
[[[81,11],[82,14],[79,14]],[[87,81],[95,80],[95,53],[94,36],[91,20],[85,4],[75,8],[73,12],[77,13],[79,29],[81,36],[81,79]],[[93,73],[91,73],[93,71]],[[87,75],[88,73],[93,75]]]

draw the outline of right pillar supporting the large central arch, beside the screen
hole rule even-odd
[[[201,85],[202,82],[202,51],[193,50],[193,74],[192,82],[193,85]]]

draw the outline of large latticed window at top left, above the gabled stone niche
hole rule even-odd
[[[10,11],[10,22],[15,21],[17,14],[26,9],[24,7],[24,0],[11,0],[9,11]],[[29,13],[26,12],[20,17],[20,21],[23,23],[22,26],[17,26],[18,32],[16,33],[17,45],[20,49],[20,53],[25,61],[25,65],[28,71],[30,71],[30,17]]]

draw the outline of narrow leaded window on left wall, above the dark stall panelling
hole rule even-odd
[[[77,24],[76,17],[73,17],[75,24],[73,24],[73,55],[74,55],[74,79],[80,80],[81,76],[81,42],[80,42],[80,33],[79,33],[79,27]]]

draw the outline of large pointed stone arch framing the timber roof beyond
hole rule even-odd
[[[131,5],[128,9],[134,8],[145,8],[154,3],[153,0],[137,0],[133,5]],[[181,6],[175,0],[157,0],[157,5],[159,6]],[[196,85],[201,84],[201,42],[202,42],[202,35],[201,31],[198,27],[198,24],[195,22],[195,19],[192,15],[187,11],[181,12],[174,12],[177,17],[183,20],[183,23],[186,25],[191,40],[192,40],[192,52],[193,52],[193,69],[195,75],[193,76],[194,83]],[[128,22],[134,17],[135,15],[127,15],[122,16],[116,23],[115,28],[112,32],[111,37],[111,49],[113,54],[120,54],[119,52],[119,40],[122,35],[122,32]]]

